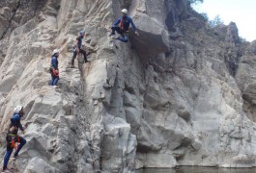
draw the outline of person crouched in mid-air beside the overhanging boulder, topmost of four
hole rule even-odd
[[[119,24],[120,26],[118,26]],[[132,19],[128,16],[128,10],[123,9],[122,16],[118,18],[111,27],[112,33],[110,34],[110,37],[114,37],[115,32],[117,32],[122,37],[115,37],[116,39],[119,39],[123,42],[128,42],[128,37],[126,37],[124,34],[128,33],[129,24],[131,24],[133,30],[135,31],[135,35],[139,36],[136,26],[134,25]]]

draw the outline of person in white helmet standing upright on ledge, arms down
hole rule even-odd
[[[59,77],[59,67],[58,67],[58,57],[60,55],[59,49],[54,49],[51,55],[51,63],[50,63],[50,74],[51,74],[51,82],[50,86],[53,86],[55,88],[58,88],[56,86],[58,84],[58,81],[60,79]]]

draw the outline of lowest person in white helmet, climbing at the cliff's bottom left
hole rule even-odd
[[[24,128],[22,127],[20,123],[21,117],[25,114],[23,111],[23,107],[16,106],[14,108],[14,115],[11,117],[11,124],[8,130],[8,134],[6,136],[7,141],[7,151],[4,158],[4,165],[3,165],[3,171],[8,172],[10,169],[7,168],[8,161],[13,153],[13,150],[16,149],[14,152],[14,159],[18,158],[18,153],[20,149],[25,145],[26,140],[18,136],[18,129],[24,133]],[[19,145],[16,147],[16,143],[19,143]]]

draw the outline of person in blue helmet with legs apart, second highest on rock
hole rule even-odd
[[[89,62],[86,57],[86,51],[83,50],[82,47],[82,39],[85,37],[84,31],[79,32],[79,37],[76,37],[76,43],[73,46],[72,50],[72,60],[71,60],[71,68],[74,67],[74,59],[76,58],[77,54],[83,54],[84,62]]]

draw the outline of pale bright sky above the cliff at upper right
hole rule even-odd
[[[206,12],[210,20],[219,15],[225,25],[233,21],[240,37],[247,41],[256,39],[256,0],[204,0],[193,9]]]

